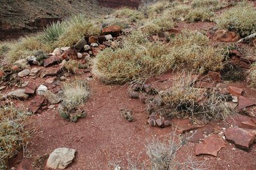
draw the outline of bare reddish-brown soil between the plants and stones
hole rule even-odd
[[[180,22],[175,29],[178,31],[184,28],[200,30],[200,28],[210,29],[212,27],[214,24],[209,22],[191,24]],[[25,79],[41,84],[47,78]],[[28,146],[31,157],[50,154],[56,148],[65,147],[77,150],[74,161],[67,169],[114,169],[110,163],[117,164],[119,160],[122,161],[120,166],[128,169],[128,154],[131,160],[139,157],[138,160],[145,162],[148,166],[149,160],[145,151],[147,142],[151,142],[152,139],[168,139],[170,134],[173,134],[173,129],[171,127],[150,127],[147,124],[147,114],[143,112],[145,104],[127,96],[129,86],[106,85],[95,78],[90,81],[90,84],[93,95],[82,107],[88,113],[86,118],[79,119],[77,123],[63,120],[58,114],[57,104],[54,109],[42,111],[31,118],[26,128],[33,128],[38,132]],[[248,87],[247,82],[221,82],[220,88],[227,88],[228,85],[243,88],[246,92],[243,96],[256,101],[256,92]],[[7,92],[10,89],[4,91]],[[32,99],[33,97],[22,104],[28,107]],[[133,111],[134,121],[129,122],[121,117],[120,109],[124,108]],[[254,107],[250,107],[246,110],[252,112],[253,109]],[[225,121],[216,121],[204,125],[203,128],[221,130],[229,126]],[[189,132],[181,136],[176,135],[175,142],[179,143],[180,137],[189,135],[191,135]],[[255,144],[249,152],[246,152],[239,150],[232,143],[227,141],[225,143],[226,147],[218,152],[218,157],[213,157],[210,155],[195,156],[196,144],[189,142],[177,152],[177,160],[184,162],[191,158],[193,161],[202,161],[204,164],[201,168],[209,167],[209,169],[256,169]]]

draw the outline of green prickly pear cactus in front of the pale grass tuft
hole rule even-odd
[[[77,109],[78,103],[73,105],[63,101],[62,108],[59,110],[60,116],[68,121],[76,122],[78,118],[84,118],[87,113]]]

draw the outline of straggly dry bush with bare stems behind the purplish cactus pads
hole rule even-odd
[[[225,119],[232,111],[228,108],[227,98],[219,93],[195,88],[196,77],[191,73],[181,73],[173,81],[171,89],[159,91],[163,102],[172,108],[168,115],[190,117],[205,122],[215,119]]]

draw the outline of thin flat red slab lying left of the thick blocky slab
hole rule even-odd
[[[207,154],[217,157],[218,151],[225,147],[225,141],[216,135],[204,139],[202,143],[196,144],[196,155]]]

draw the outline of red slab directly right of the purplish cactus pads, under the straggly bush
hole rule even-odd
[[[176,129],[176,132],[183,134],[184,132],[188,132],[190,130],[193,130],[195,128],[200,128],[200,125],[193,125],[190,123],[189,120],[184,120],[184,119],[178,119],[178,118],[173,118],[170,120],[170,123],[174,129]]]

